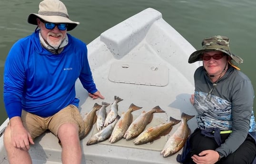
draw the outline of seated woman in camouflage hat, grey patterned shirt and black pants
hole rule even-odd
[[[252,164],[256,155],[254,90],[232,54],[229,39],[213,36],[202,41],[188,63],[203,61],[194,74],[195,93],[190,102],[197,111],[198,128],[190,135],[183,164]]]

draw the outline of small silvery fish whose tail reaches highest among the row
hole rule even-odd
[[[115,96],[115,101],[114,101],[114,103],[111,104],[110,111],[108,112],[105,122],[104,122],[105,127],[108,124],[112,123],[118,116],[118,102],[120,102],[122,100],[123,99],[121,99],[120,97]]]

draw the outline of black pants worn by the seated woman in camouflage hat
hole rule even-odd
[[[229,134],[221,134],[221,140],[225,141]],[[199,154],[203,150],[215,150],[219,147],[214,138],[206,137],[201,134],[200,129],[196,129],[190,137],[191,151],[190,157],[194,154]],[[216,164],[251,164],[256,155],[255,140],[247,135],[245,142],[238,147],[238,149],[229,154],[226,158],[222,158]],[[195,164],[190,158],[190,164]]]

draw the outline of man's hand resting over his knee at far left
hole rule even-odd
[[[30,133],[22,124],[21,118],[16,116],[10,119],[11,143],[14,147],[29,150],[30,144],[34,144]]]

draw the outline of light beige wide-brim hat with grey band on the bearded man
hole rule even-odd
[[[33,25],[37,24],[37,18],[43,19],[50,23],[66,23],[67,30],[74,29],[79,22],[69,19],[69,14],[66,6],[60,0],[43,0],[39,3],[38,14],[30,13],[28,22]]]

